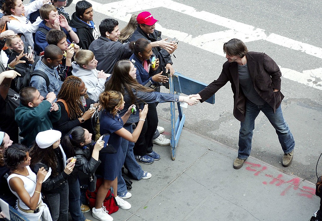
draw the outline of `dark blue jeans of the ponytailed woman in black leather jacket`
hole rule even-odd
[[[81,212],[81,188],[80,183],[76,180],[74,183],[68,181],[69,186],[69,212],[73,221],[85,221],[85,216]]]

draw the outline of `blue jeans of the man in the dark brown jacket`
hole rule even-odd
[[[281,106],[276,109],[274,114],[273,108],[267,103],[258,106],[247,101],[245,121],[241,122],[241,129],[239,130],[239,159],[245,160],[251,153],[251,139],[253,137],[253,130],[255,128],[255,119],[260,111],[266,115],[272,126],[275,128],[283,152],[290,153],[294,149],[295,141],[292,133],[289,130],[289,125],[284,120]]]

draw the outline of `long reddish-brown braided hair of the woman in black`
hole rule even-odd
[[[65,100],[71,119],[78,118],[83,114],[83,110],[85,111],[84,108],[83,110],[81,109],[83,105],[81,102],[81,96],[78,89],[78,87],[82,82],[83,81],[79,77],[76,77],[76,76],[67,77],[64,80],[62,84],[62,88],[57,95],[57,100],[58,99]],[[84,97],[85,99],[89,99],[87,94],[85,94]]]

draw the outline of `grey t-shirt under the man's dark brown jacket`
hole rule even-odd
[[[264,105],[266,102],[256,92],[251,75],[249,73],[248,65],[238,65],[239,84],[242,87],[244,95],[249,101],[255,105]]]

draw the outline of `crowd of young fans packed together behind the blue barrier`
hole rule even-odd
[[[113,220],[103,206],[109,189],[118,207],[131,208],[122,166],[149,179],[138,162],[160,160],[154,143],[170,145],[157,104],[198,101],[160,93],[177,43],[161,39],[149,12],[121,31],[111,18],[97,30],[85,0],[71,16],[66,0],[0,2],[0,198],[29,220],[68,220],[70,212],[84,221],[80,187],[95,173],[103,183],[92,216]],[[108,144],[99,134],[110,135]]]

